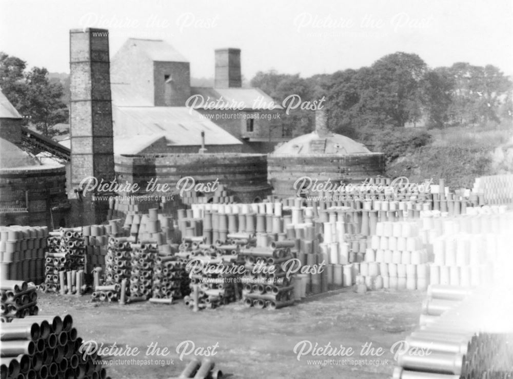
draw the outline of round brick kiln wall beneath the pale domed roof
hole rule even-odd
[[[280,198],[297,196],[294,182],[303,176],[319,182],[358,183],[369,177],[383,175],[385,159],[382,153],[274,155],[267,157],[269,182],[274,195]]]

